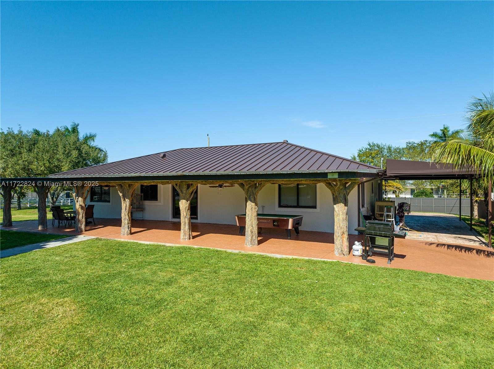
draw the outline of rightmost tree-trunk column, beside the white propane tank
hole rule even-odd
[[[334,180],[326,182],[333,197],[334,206],[334,255],[348,256],[348,195],[361,181]]]

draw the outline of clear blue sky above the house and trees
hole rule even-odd
[[[76,121],[110,161],[401,145],[493,89],[493,4],[2,1],[1,127]]]

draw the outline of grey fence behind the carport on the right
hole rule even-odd
[[[390,200],[393,200],[391,198]],[[459,198],[448,197],[396,197],[396,206],[408,202],[412,212],[459,214]],[[470,214],[470,198],[461,198],[461,214]]]

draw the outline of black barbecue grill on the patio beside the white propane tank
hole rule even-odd
[[[394,224],[388,221],[367,221],[364,231],[365,249],[362,258],[366,260],[373,254],[384,254],[388,264],[395,258],[395,237],[405,238],[407,232],[394,229]]]

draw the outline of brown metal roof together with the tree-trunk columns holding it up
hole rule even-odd
[[[328,228],[324,228],[336,235],[332,252],[337,256],[348,256],[348,231],[352,231],[357,225],[349,226],[348,223],[350,194],[360,184],[379,180],[383,172],[382,168],[291,144],[287,140],[266,144],[182,148],[55,173],[46,178],[2,179],[2,194],[5,200],[2,225],[12,226],[12,189],[29,180],[34,183],[33,187],[38,194],[38,230],[48,227],[46,198],[49,189],[54,185],[63,184],[73,187],[74,221],[78,233],[86,231],[86,205],[90,200],[91,189],[98,187],[106,190],[115,188],[118,191],[121,210],[118,233],[122,237],[133,236],[139,233],[138,229],[134,229],[138,223],[133,221],[131,215],[132,210],[137,209],[133,204],[144,202],[135,197],[137,187],[166,185],[172,186],[177,192],[176,205],[180,213],[180,223],[177,224],[180,231],[170,242],[187,242],[194,237],[191,204],[199,186],[223,188],[228,184],[229,187],[240,188],[243,192],[241,197],[245,200],[245,207],[243,206],[240,213],[232,213],[232,217],[245,213],[244,246],[256,247],[259,245],[258,198],[263,188],[275,184],[295,189],[295,203],[287,201],[282,204],[280,196],[278,206],[283,208],[276,209],[277,211],[288,208],[288,211],[292,212],[310,212],[320,210],[316,200],[317,189],[312,195],[306,195],[300,200],[299,185],[321,184],[329,190],[325,200],[330,199],[333,210]],[[312,199],[313,202],[300,206],[300,201],[307,199]],[[214,227],[223,226],[221,223],[216,224]],[[276,226],[280,224],[277,223]],[[295,230],[298,231],[298,228]]]

